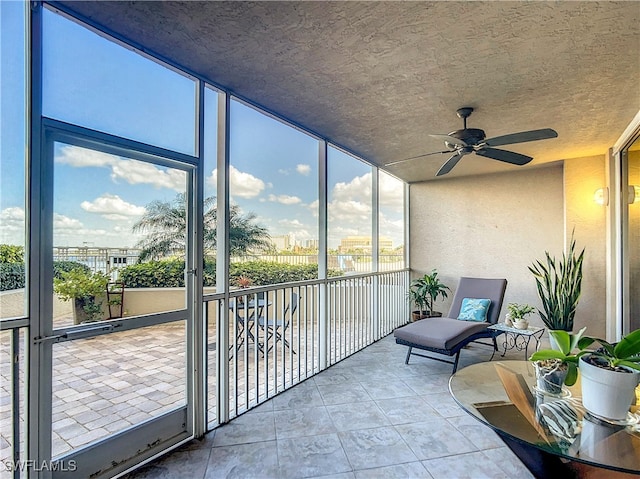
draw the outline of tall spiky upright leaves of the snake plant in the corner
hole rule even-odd
[[[536,280],[538,296],[543,310],[540,319],[549,330],[573,330],[573,320],[582,289],[582,261],[584,248],[576,251],[576,241],[571,235],[569,251],[556,260],[545,251],[545,260],[536,260],[529,266]]]

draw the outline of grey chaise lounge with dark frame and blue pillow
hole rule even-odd
[[[506,288],[506,279],[460,278],[447,317],[422,319],[394,331],[396,343],[409,347],[405,364],[409,364],[414,354],[453,364],[453,374],[458,369],[460,350],[482,338],[492,340],[495,353],[498,350],[496,336],[501,332],[488,327],[498,322]],[[414,349],[455,356],[455,359],[420,354]]]

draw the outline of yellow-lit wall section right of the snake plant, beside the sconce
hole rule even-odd
[[[575,228],[576,245],[585,248],[582,296],[576,311],[576,328],[587,327],[591,336],[606,336],[606,206],[597,204],[594,192],[605,183],[605,157],[565,160],[564,187],[566,241]],[[575,328],[574,328],[575,329]]]

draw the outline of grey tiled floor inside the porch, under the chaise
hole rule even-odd
[[[415,357],[405,365],[405,354],[387,336],[125,477],[533,477],[451,398],[450,365]],[[490,356],[474,345],[460,367]]]

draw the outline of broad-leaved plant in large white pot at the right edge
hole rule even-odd
[[[584,337],[579,346],[598,342],[600,348],[580,357],[582,404],[594,416],[624,421],[640,382],[640,329],[619,343]]]

